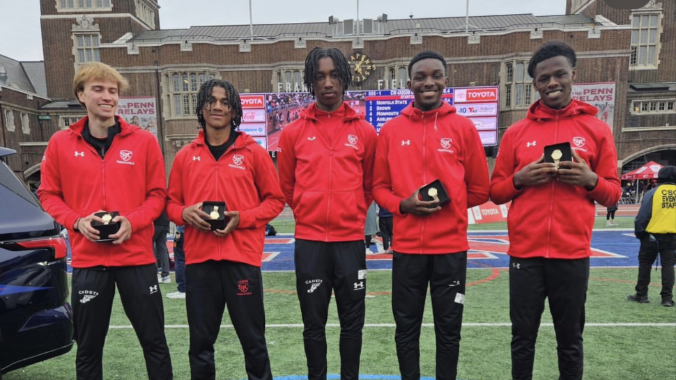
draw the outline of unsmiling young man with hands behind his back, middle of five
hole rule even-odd
[[[339,49],[312,49],[305,86],[316,102],[282,130],[277,164],[295,217],[296,289],[307,378],[326,379],[326,324],[331,292],[341,321],[341,379],[356,380],[362,349],[366,253],[376,130],[343,102],[352,79]]]

